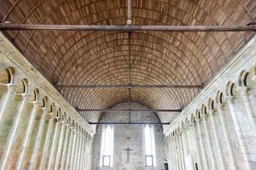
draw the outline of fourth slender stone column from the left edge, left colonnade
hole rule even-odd
[[[39,127],[38,127],[38,133],[37,133],[37,137],[35,139],[35,144],[33,147],[33,152],[32,152],[32,156],[29,162],[29,168],[28,169],[35,169],[36,168],[36,163],[37,163],[37,157],[38,157],[38,151],[40,148],[40,144],[41,144],[41,139],[42,139],[42,135],[44,132],[44,124],[45,124],[45,118],[47,115],[47,111],[48,109],[46,107],[43,108],[43,114],[41,117],[41,120],[39,122]]]

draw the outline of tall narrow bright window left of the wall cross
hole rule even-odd
[[[102,128],[102,148],[100,167],[113,166],[113,126],[103,126]]]

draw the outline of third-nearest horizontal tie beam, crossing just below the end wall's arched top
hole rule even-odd
[[[180,112],[182,111],[181,109],[177,110],[142,110],[142,109],[78,109],[77,111],[88,111],[88,112],[93,112],[93,111],[104,111],[104,112]]]

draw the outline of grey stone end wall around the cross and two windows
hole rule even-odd
[[[119,104],[113,109],[128,109],[127,103]],[[147,109],[143,105],[131,103],[132,109]],[[114,113],[109,112],[102,116],[101,122],[128,122],[129,114],[127,112]],[[153,113],[131,113],[131,122],[158,122],[158,118]],[[145,151],[144,151],[144,127],[145,125],[114,125],[114,149],[113,149],[113,167],[99,167],[102,141],[102,125],[99,125],[96,130],[94,143],[94,170],[160,170],[163,168],[165,159],[165,146],[162,127],[154,126],[155,135],[155,154],[156,167],[145,167]],[[126,149],[130,147],[130,162],[126,163]]]

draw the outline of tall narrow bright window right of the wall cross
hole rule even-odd
[[[146,167],[155,167],[155,144],[154,144],[154,126],[146,125],[145,133],[145,162]]]

